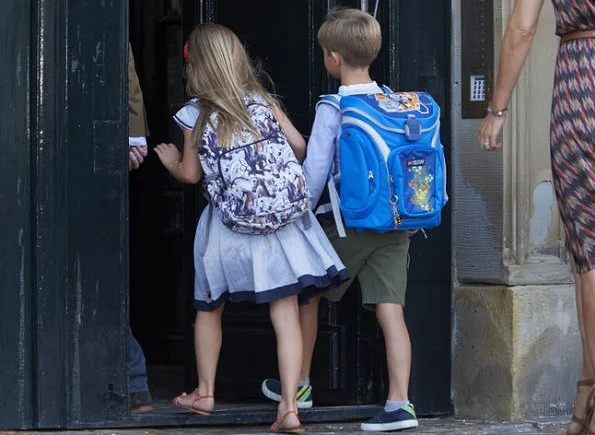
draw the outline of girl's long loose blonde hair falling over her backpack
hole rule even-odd
[[[222,148],[230,148],[234,133],[260,133],[253,125],[244,96],[257,93],[271,106],[274,98],[258,80],[254,67],[239,38],[220,24],[202,24],[188,39],[186,92],[198,99],[199,116],[192,132],[198,146],[206,123],[217,133]],[[212,124],[216,115],[217,125]]]

